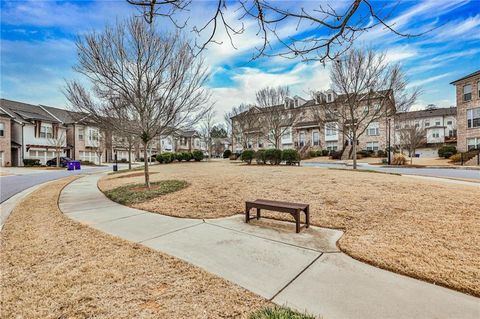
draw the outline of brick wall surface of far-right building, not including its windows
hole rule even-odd
[[[480,108],[480,71],[477,71],[465,78],[452,82],[456,86],[457,101],[457,148],[461,152],[467,151],[467,140],[477,138],[480,141],[480,127],[468,128],[467,111]],[[472,86],[472,96],[468,101],[464,100],[464,86]],[[480,142],[477,142],[480,143]]]

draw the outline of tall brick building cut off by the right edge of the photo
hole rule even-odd
[[[480,70],[450,84],[456,88],[457,148],[480,149]]]

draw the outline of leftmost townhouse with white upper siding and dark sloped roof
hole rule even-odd
[[[22,166],[25,159],[38,159],[45,164],[56,157],[57,152],[66,155],[69,150],[67,129],[42,107],[1,99],[0,111],[4,138],[10,136],[10,144],[0,144],[2,157],[5,156],[4,165]]]

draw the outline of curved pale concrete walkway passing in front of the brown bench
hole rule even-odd
[[[311,227],[295,234],[289,223],[246,225],[242,216],[197,220],[149,213],[110,201],[97,188],[100,177],[83,177],[65,187],[60,209],[74,220],[183,259],[277,304],[325,318],[480,317],[478,298],[341,253],[335,244],[340,231]]]

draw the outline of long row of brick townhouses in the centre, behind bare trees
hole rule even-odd
[[[348,129],[348,123],[342,122],[342,119],[335,117],[334,112],[329,112],[329,108],[342,107],[345,97],[336,95],[332,90],[317,92],[314,98],[306,100],[295,96],[287,98],[284,104],[275,105],[268,110],[253,107],[249,110],[253,118],[259,118],[252,127],[244,127],[241,121],[245,118],[244,114],[234,116],[232,120],[233,128],[233,150],[241,151],[246,145],[247,148],[261,149],[274,147],[269,134],[262,125],[266,122],[262,119],[265,112],[273,108],[282,110],[285,113],[285,126],[280,139],[280,149],[294,148],[301,153],[310,149],[328,149],[330,151],[342,151],[342,157],[351,157],[352,141],[346,134],[342,133]],[[357,141],[357,150],[379,151],[387,148],[387,126],[391,118],[387,115],[394,113],[394,101],[388,92],[377,92],[365,96],[362,106],[357,110],[359,118],[371,116],[368,127]],[[295,113],[292,115],[292,113]],[[294,121],[289,121],[294,118]],[[392,124],[393,125],[393,124]],[[243,129],[248,134],[242,134]],[[393,128],[392,132],[393,132]],[[248,141],[242,141],[242,136],[248,136]]]

